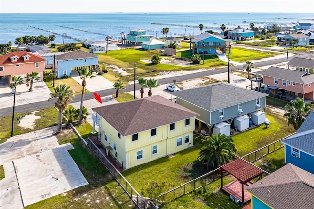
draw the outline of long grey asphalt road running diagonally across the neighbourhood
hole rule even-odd
[[[276,51],[276,50],[274,50],[274,51]],[[308,57],[312,57],[312,56],[313,56],[312,54],[302,53],[302,52],[299,52],[299,55],[298,55],[298,57],[303,57],[303,58],[308,58]],[[278,64],[278,63],[284,63],[284,62],[287,62],[287,58],[254,62],[254,66],[255,66],[255,68],[259,68],[262,66],[274,65],[274,64]],[[243,69],[243,65],[230,67],[230,70],[232,70],[232,71],[238,70],[238,69]],[[224,73],[227,71],[228,71],[228,68],[226,67],[226,68],[220,68],[220,69],[216,69],[216,70],[208,70],[208,71],[196,72],[196,73],[187,74],[187,75],[175,76],[175,77],[171,77],[171,78],[163,78],[163,79],[158,80],[158,84],[164,85],[164,84],[172,83],[173,80],[176,80],[177,82],[182,82],[184,80],[205,77],[205,76],[209,76],[209,75]],[[139,89],[140,89],[140,85],[136,84],[135,90],[139,90]],[[97,91],[97,94],[99,94],[101,97],[103,97],[103,96],[112,95],[115,93],[115,91],[116,90],[114,88],[105,89],[105,90]],[[132,92],[132,91],[134,91],[134,85],[126,86],[125,89],[120,90],[119,92],[122,93],[122,92]],[[79,102],[80,98],[81,98],[80,95],[76,95],[73,98],[73,103]],[[85,95],[84,95],[84,101],[94,99],[94,98],[95,98],[94,92],[85,93]],[[19,106],[15,107],[15,113],[31,112],[31,111],[35,111],[38,109],[52,107],[52,106],[54,106],[54,102],[52,102],[52,101],[51,102],[41,101],[41,102],[35,102],[35,103],[31,103],[31,104],[19,105]],[[12,107],[2,108],[0,110],[0,117],[8,116],[11,113],[12,113]]]

